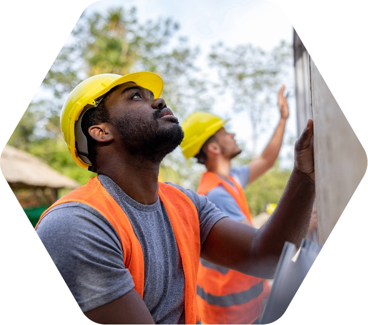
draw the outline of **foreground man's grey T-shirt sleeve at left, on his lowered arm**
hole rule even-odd
[[[41,220],[36,233],[82,312],[134,288],[118,234],[92,207],[60,204]]]

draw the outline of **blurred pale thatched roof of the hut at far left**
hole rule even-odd
[[[27,152],[5,145],[0,156],[5,180],[17,187],[76,188],[79,184]]]

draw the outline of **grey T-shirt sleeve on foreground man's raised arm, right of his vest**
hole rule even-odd
[[[222,218],[226,218],[227,215],[221,212],[215,204],[211,203],[204,195],[199,195],[191,189],[184,189],[176,184],[167,184],[180,189],[197,207],[202,245],[215,223]]]

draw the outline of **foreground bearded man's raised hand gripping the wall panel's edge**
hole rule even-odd
[[[308,120],[302,135],[295,143],[294,165],[302,173],[306,174],[313,182],[315,182],[312,120]]]

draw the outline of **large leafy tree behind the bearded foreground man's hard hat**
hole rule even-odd
[[[53,99],[32,102],[8,143],[22,146],[56,170],[86,183],[94,174],[73,162],[60,132],[59,116],[68,93],[97,73],[151,71],[163,78],[162,97],[180,120],[196,109],[208,110],[211,99],[205,95],[206,81],[193,64],[199,49],[188,47],[185,37],[174,38],[178,29],[170,18],[141,24],[134,8],[82,15],[42,83]],[[192,164],[177,150],[164,159],[161,177],[179,184],[184,181],[190,187]]]

